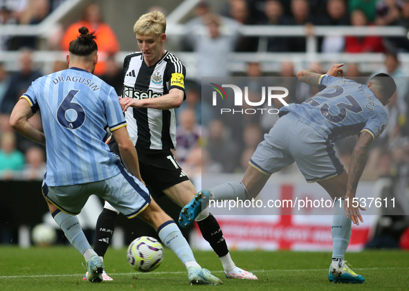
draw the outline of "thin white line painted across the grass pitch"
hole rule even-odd
[[[408,270],[409,267],[356,267],[354,270]],[[328,269],[292,269],[292,270],[251,270],[251,272],[262,273],[262,272],[321,272],[327,271]],[[150,274],[185,274],[186,272],[152,272],[152,273],[139,273],[139,272],[129,272],[129,273],[109,273],[111,276],[122,276],[122,275],[150,275]],[[224,273],[224,271],[212,271],[212,273]],[[33,275],[33,276],[0,276],[0,279],[11,279],[11,278],[41,278],[41,277],[54,277],[54,276],[83,276],[82,274],[53,274],[53,275]]]

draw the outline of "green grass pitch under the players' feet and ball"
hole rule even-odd
[[[157,270],[134,271],[126,250],[107,252],[104,263],[114,281],[88,283],[82,256],[68,246],[0,247],[0,290],[409,290],[409,252],[365,251],[347,253],[363,284],[334,284],[327,279],[329,252],[231,252],[239,267],[254,272],[257,281],[226,279],[213,252],[194,251],[197,261],[208,268],[224,285],[190,285],[182,263],[170,250]]]

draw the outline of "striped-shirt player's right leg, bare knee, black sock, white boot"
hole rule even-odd
[[[186,180],[163,190],[163,192],[183,207],[195,196],[196,189],[194,189],[190,180]],[[219,256],[228,278],[257,279],[257,276],[253,273],[236,267],[228,252],[227,243],[224,240],[220,225],[207,208],[197,216],[196,221],[203,238],[208,241],[217,256]]]

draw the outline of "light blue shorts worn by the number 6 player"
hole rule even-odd
[[[149,205],[151,196],[140,180],[120,162],[117,165],[120,173],[107,180],[59,187],[48,187],[43,182],[43,194],[58,209],[72,215],[80,214],[89,196],[95,194],[107,200],[127,218],[133,218]]]

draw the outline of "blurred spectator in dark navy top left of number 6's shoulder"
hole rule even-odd
[[[8,89],[0,105],[0,113],[10,114],[19,97],[25,93],[31,82],[41,77],[39,71],[33,69],[33,54],[30,50],[20,52],[20,71],[14,73],[9,82]]]

